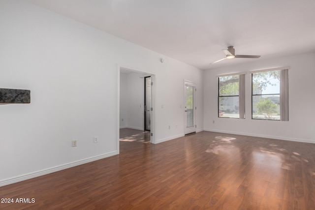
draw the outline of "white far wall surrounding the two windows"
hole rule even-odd
[[[228,60],[227,60],[228,61]],[[246,75],[246,119],[218,118],[217,75],[273,67],[289,69],[289,121],[252,120],[251,74]],[[205,71],[204,128],[208,131],[315,143],[315,54],[257,60]],[[215,123],[213,123],[215,120]]]

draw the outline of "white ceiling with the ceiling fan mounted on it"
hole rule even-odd
[[[315,0],[27,0],[200,69],[315,52]]]

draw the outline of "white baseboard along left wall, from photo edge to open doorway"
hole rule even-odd
[[[50,174],[50,173],[53,173],[53,172],[61,171],[61,170],[67,169],[67,168],[71,168],[71,167],[74,167],[74,166],[82,165],[82,164],[89,163],[89,162],[92,162],[92,161],[95,161],[95,160],[103,159],[105,157],[110,157],[110,156],[113,156],[113,155],[116,155],[116,154],[118,154],[118,151],[112,151],[112,152],[108,152],[108,153],[105,153],[105,154],[102,154],[102,155],[98,155],[98,156],[82,159],[82,160],[79,160],[79,161],[75,161],[75,162],[67,163],[67,164],[64,164],[64,165],[60,165],[60,166],[44,169],[44,170],[41,170],[41,171],[36,171],[36,172],[29,173],[29,174],[24,174],[24,175],[21,175],[21,176],[13,177],[13,178],[0,180],[0,186],[12,184],[12,183],[19,182],[19,181],[29,180],[29,179],[32,179],[32,178],[35,178],[35,177],[40,177],[40,176],[43,176],[43,175],[46,175],[46,174]]]

